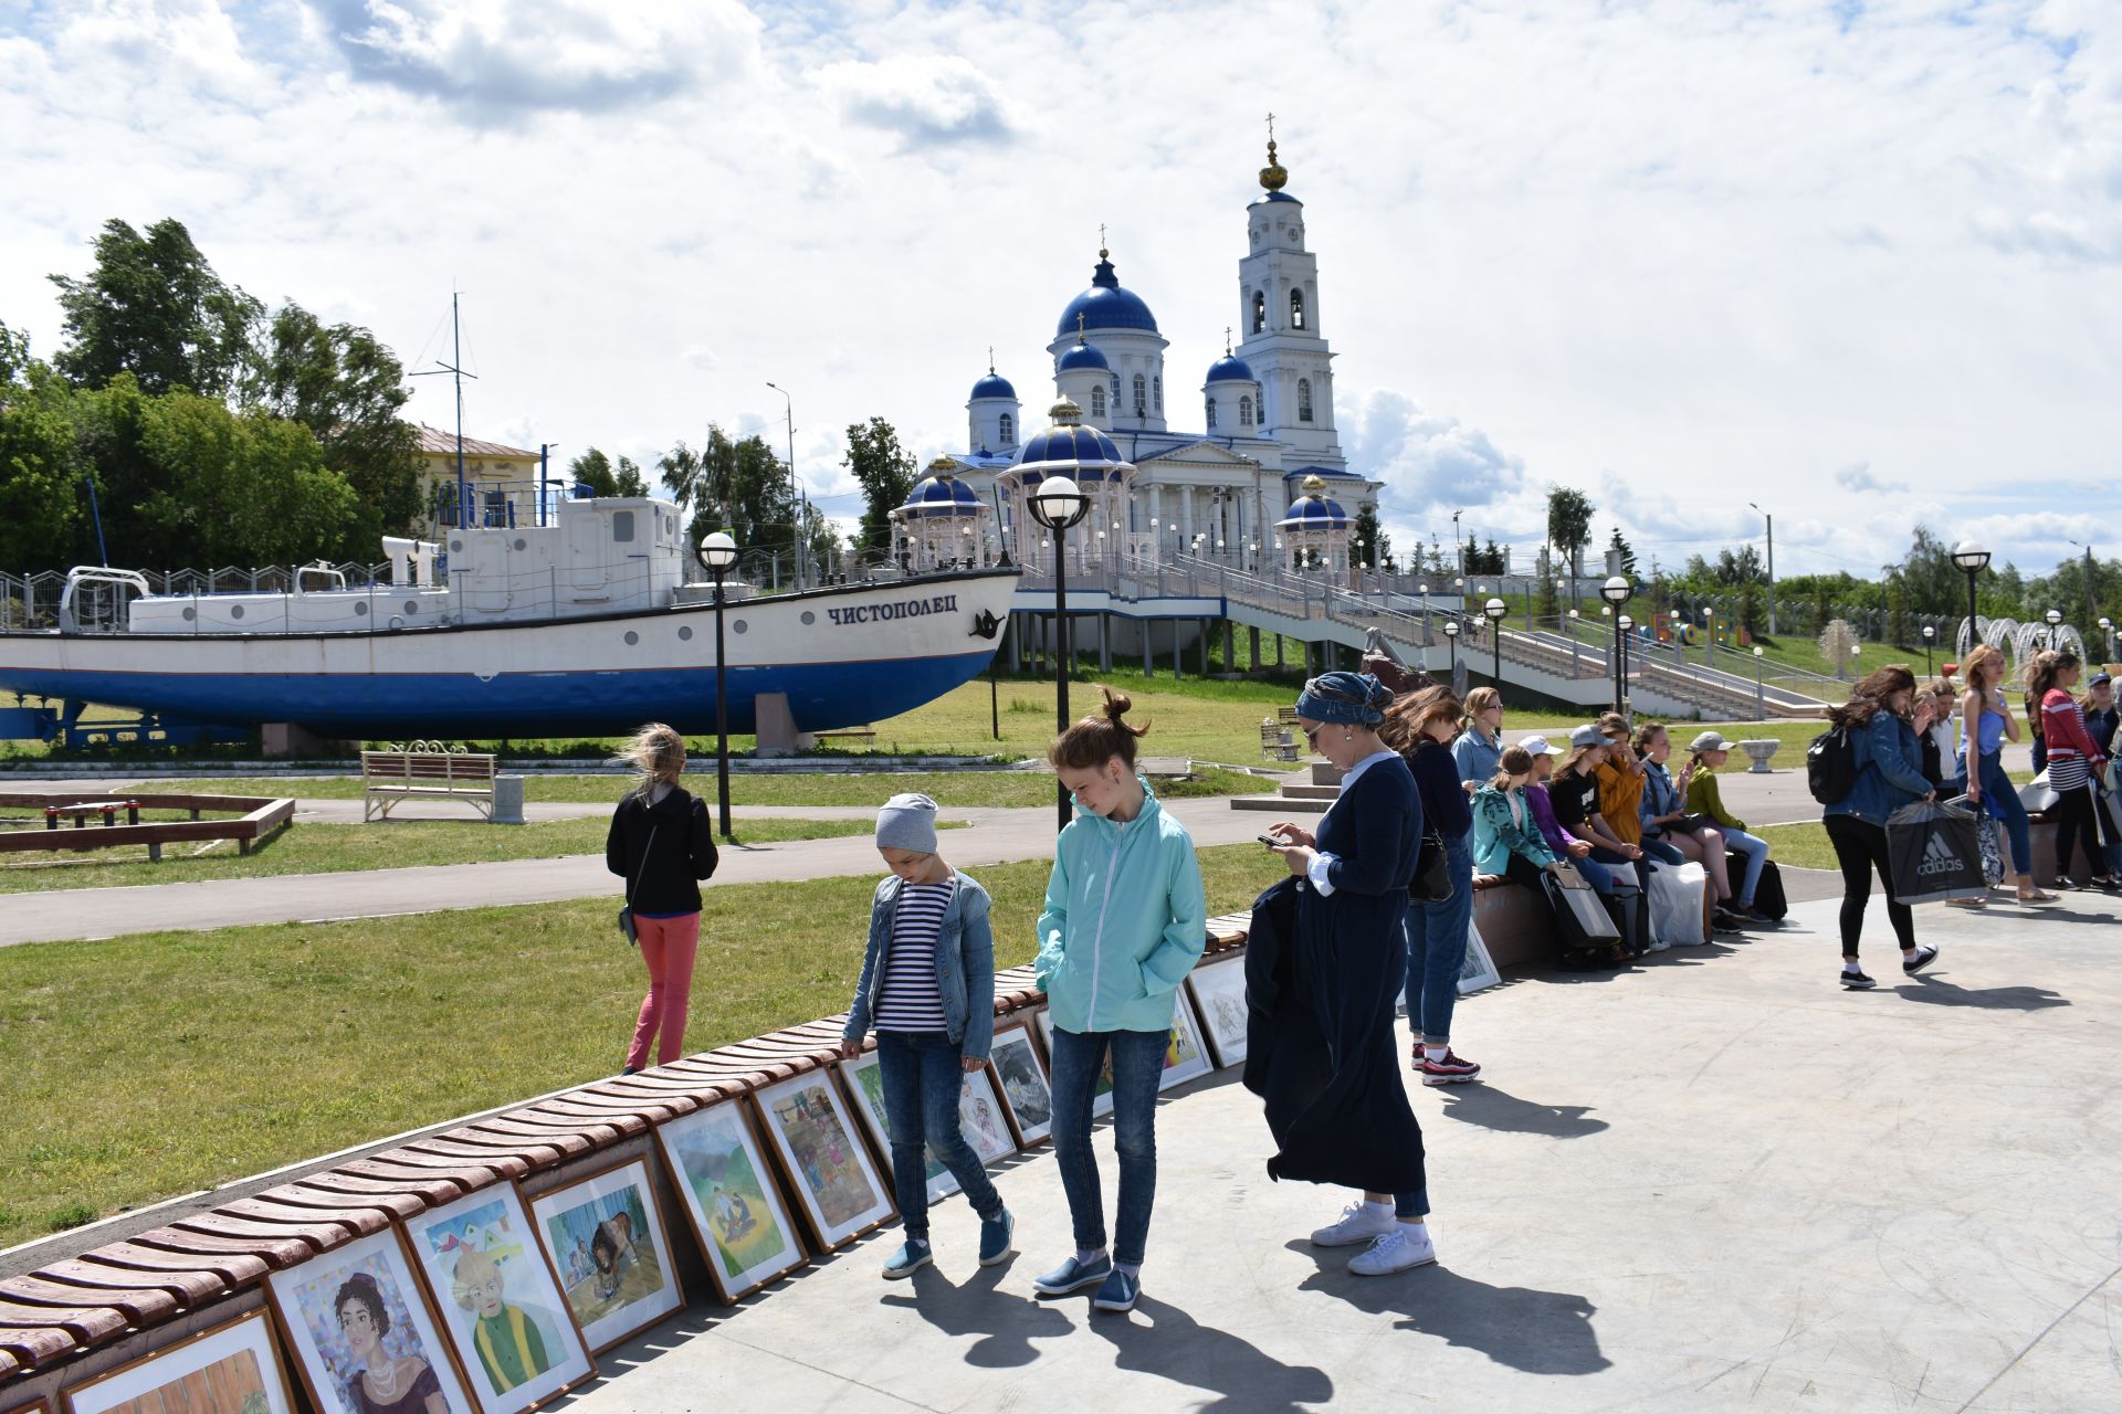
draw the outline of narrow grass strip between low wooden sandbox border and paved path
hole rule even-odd
[[[153,818],[153,812],[140,814]],[[732,820],[732,825],[736,825],[738,844],[870,833],[868,820]],[[166,844],[161,863],[146,859],[146,846],[125,846],[108,850],[108,854],[102,850],[51,856],[6,854],[0,856],[4,861],[0,863],[0,892],[603,854],[607,829],[609,820],[603,816],[535,820],[530,825],[488,825],[486,820],[297,823],[248,854],[240,854],[233,839],[216,842],[204,854],[193,852],[199,848],[197,844]],[[93,835],[93,827],[83,833]]]

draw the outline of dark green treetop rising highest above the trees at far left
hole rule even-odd
[[[172,388],[240,394],[265,307],[214,273],[180,220],[166,216],[144,233],[106,220],[95,267],[51,282],[66,329],[53,367],[70,382],[102,388],[132,373],[151,396]]]

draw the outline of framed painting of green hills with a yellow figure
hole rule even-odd
[[[743,1102],[724,1100],[660,1124],[656,1143],[724,1304],[811,1259]]]

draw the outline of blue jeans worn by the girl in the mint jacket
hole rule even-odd
[[[1097,1077],[1112,1051],[1112,1147],[1120,1155],[1120,1210],[1114,1217],[1118,1242],[1112,1259],[1142,1266],[1150,1240],[1150,1208],[1156,1204],[1156,1083],[1165,1075],[1167,1030],[1091,1030],[1055,1026],[1055,1164],[1067,1194],[1076,1247],[1106,1247],[1106,1196],[1091,1153],[1091,1102]]]

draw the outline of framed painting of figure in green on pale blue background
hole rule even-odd
[[[405,1219],[414,1263],[484,1414],[522,1414],[596,1374],[514,1183]]]

